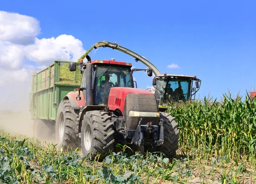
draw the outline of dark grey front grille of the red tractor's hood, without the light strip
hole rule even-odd
[[[159,112],[154,94],[128,93],[125,98],[125,107],[123,112],[127,130],[136,130],[137,125],[140,122],[140,117],[129,117],[130,110],[140,112]],[[145,120],[147,122],[152,122],[152,125],[157,125],[159,118],[145,118]]]

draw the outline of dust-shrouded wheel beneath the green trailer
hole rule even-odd
[[[51,122],[45,119],[35,119],[33,125],[33,136],[35,139],[41,141],[52,139],[52,128]]]

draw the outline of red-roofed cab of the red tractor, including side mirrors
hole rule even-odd
[[[89,72],[90,74],[87,74],[87,63],[83,63],[82,60],[79,61],[79,64],[71,62],[70,69],[73,71],[73,68],[74,70],[76,69],[74,67],[75,65],[81,66],[81,73],[83,76],[79,90],[82,91],[83,96],[86,96],[86,93],[88,93],[86,90],[87,78],[91,78],[92,95],[90,96],[92,98],[92,105],[108,105],[108,96],[111,88],[134,88],[135,81],[132,77],[134,71],[148,70],[148,75],[152,76],[151,68],[131,70],[131,63],[119,62],[115,59],[93,60],[91,61],[91,64],[92,71]]]

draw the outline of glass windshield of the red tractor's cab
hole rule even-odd
[[[113,87],[134,87],[131,68],[99,65],[94,79],[94,104],[108,104],[108,93]]]

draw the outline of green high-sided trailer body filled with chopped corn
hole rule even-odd
[[[32,119],[55,121],[61,100],[67,93],[80,87],[80,68],[71,72],[68,65],[68,61],[55,61],[47,68],[33,73],[30,93]]]

